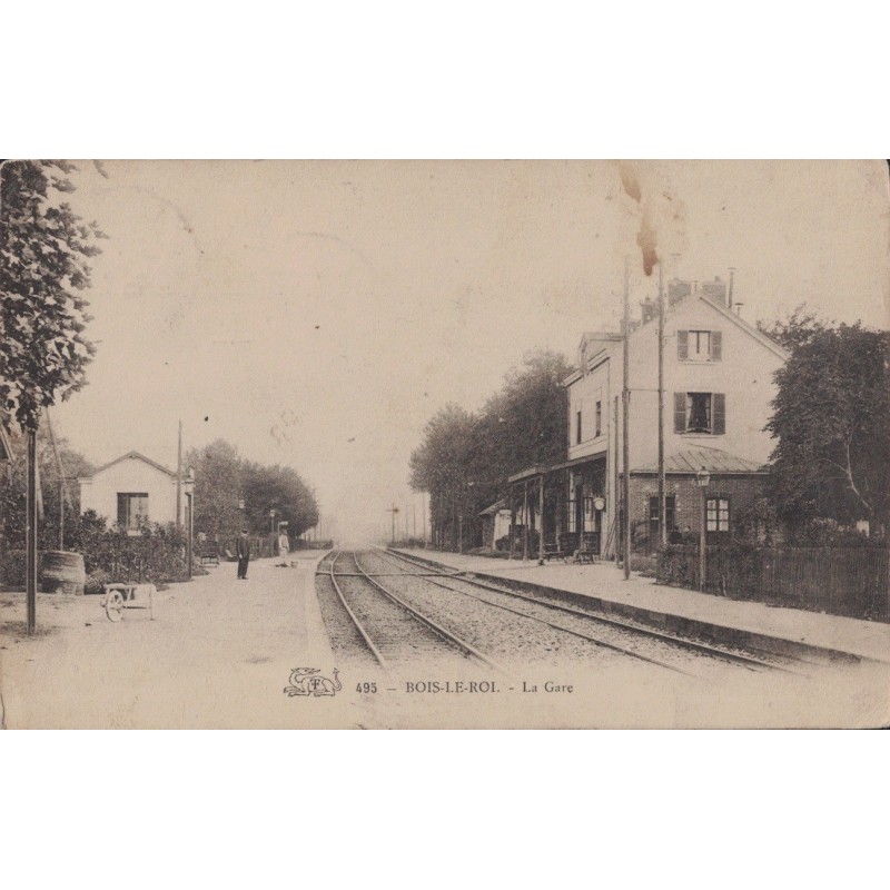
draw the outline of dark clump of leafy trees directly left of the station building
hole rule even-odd
[[[434,543],[479,543],[478,514],[506,495],[507,477],[533,464],[563,459],[571,372],[562,355],[526,355],[478,412],[448,404],[427,423],[411,456],[411,485],[429,493]]]

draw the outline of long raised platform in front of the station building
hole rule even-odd
[[[558,591],[593,599],[597,607],[676,633],[692,633],[731,645],[820,659],[871,660],[890,664],[890,624],[799,609],[730,600],[669,587],[635,572],[625,581],[612,562],[593,565],[495,560],[435,550],[404,550],[479,577],[513,586]]]

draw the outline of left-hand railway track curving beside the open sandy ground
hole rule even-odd
[[[346,571],[338,572],[344,558]],[[500,670],[487,655],[372,577],[355,554],[335,552],[327,576],[363,645],[383,668],[411,660],[461,659]]]

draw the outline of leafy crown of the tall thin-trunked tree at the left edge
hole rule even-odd
[[[73,191],[66,161],[12,161],[0,171],[0,413],[22,427],[80,389],[95,354],[80,295],[87,259],[105,236],[60,196]]]

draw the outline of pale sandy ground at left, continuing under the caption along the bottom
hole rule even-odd
[[[624,663],[550,671],[418,664],[384,674],[337,664],[315,595],[320,554],[290,568],[225,563],[158,594],[156,620],[109,622],[99,596],[41,594],[39,633],[23,635],[23,594],[0,595],[3,724],[18,728],[852,726],[888,714],[890,666],[807,676],[728,669],[714,682]],[[290,696],[296,668],[342,688]],[[463,685],[458,685],[463,683]],[[557,691],[547,691],[545,684]],[[438,688],[435,688],[438,684]],[[476,684],[472,688],[471,684]],[[571,691],[566,688],[571,686]]]

